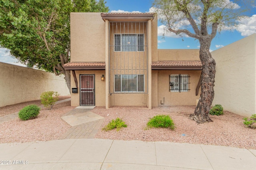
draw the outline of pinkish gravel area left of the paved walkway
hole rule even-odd
[[[37,102],[25,103],[12,106],[23,108],[21,105],[25,104],[27,106],[29,104],[36,104]],[[70,101],[68,101],[54,105],[52,110],[48,110],[45,107],[42,108],[36,119],[22,121],[17,117],[4,122],[0,124],[0,143],[56,140],[71,127],[61,119],[61,116],[72,109],[74,107],[71,107]],[[2,108],[0,108],[0,112],[2,112]]]

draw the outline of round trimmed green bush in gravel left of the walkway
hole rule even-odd
[[[21,120],[34,119],[38,116],[39,111],[40,107],[32,104],[21,109],[18,115]]]

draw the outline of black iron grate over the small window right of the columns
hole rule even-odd
[[[169,91],[171,92],[188,92],[189,89],[188,74],[171,74],[169,75]]]

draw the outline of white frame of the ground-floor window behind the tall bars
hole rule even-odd
[[[116,76],[120,76],[120,91],[116,91]],[[123,91],[123,76],[135,76],[136,75],[136,91]],[[138,75],[143,76],[143,91],[138,91]],[[141,83],[141,82],[140,82]],[[145,74],[114,74],[114,93],[144,93],[145,92]]]

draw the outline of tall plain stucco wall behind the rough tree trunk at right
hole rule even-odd
[[[216,61],[212,105],[251,116],[256,113],[256,34],[212,51]]]

